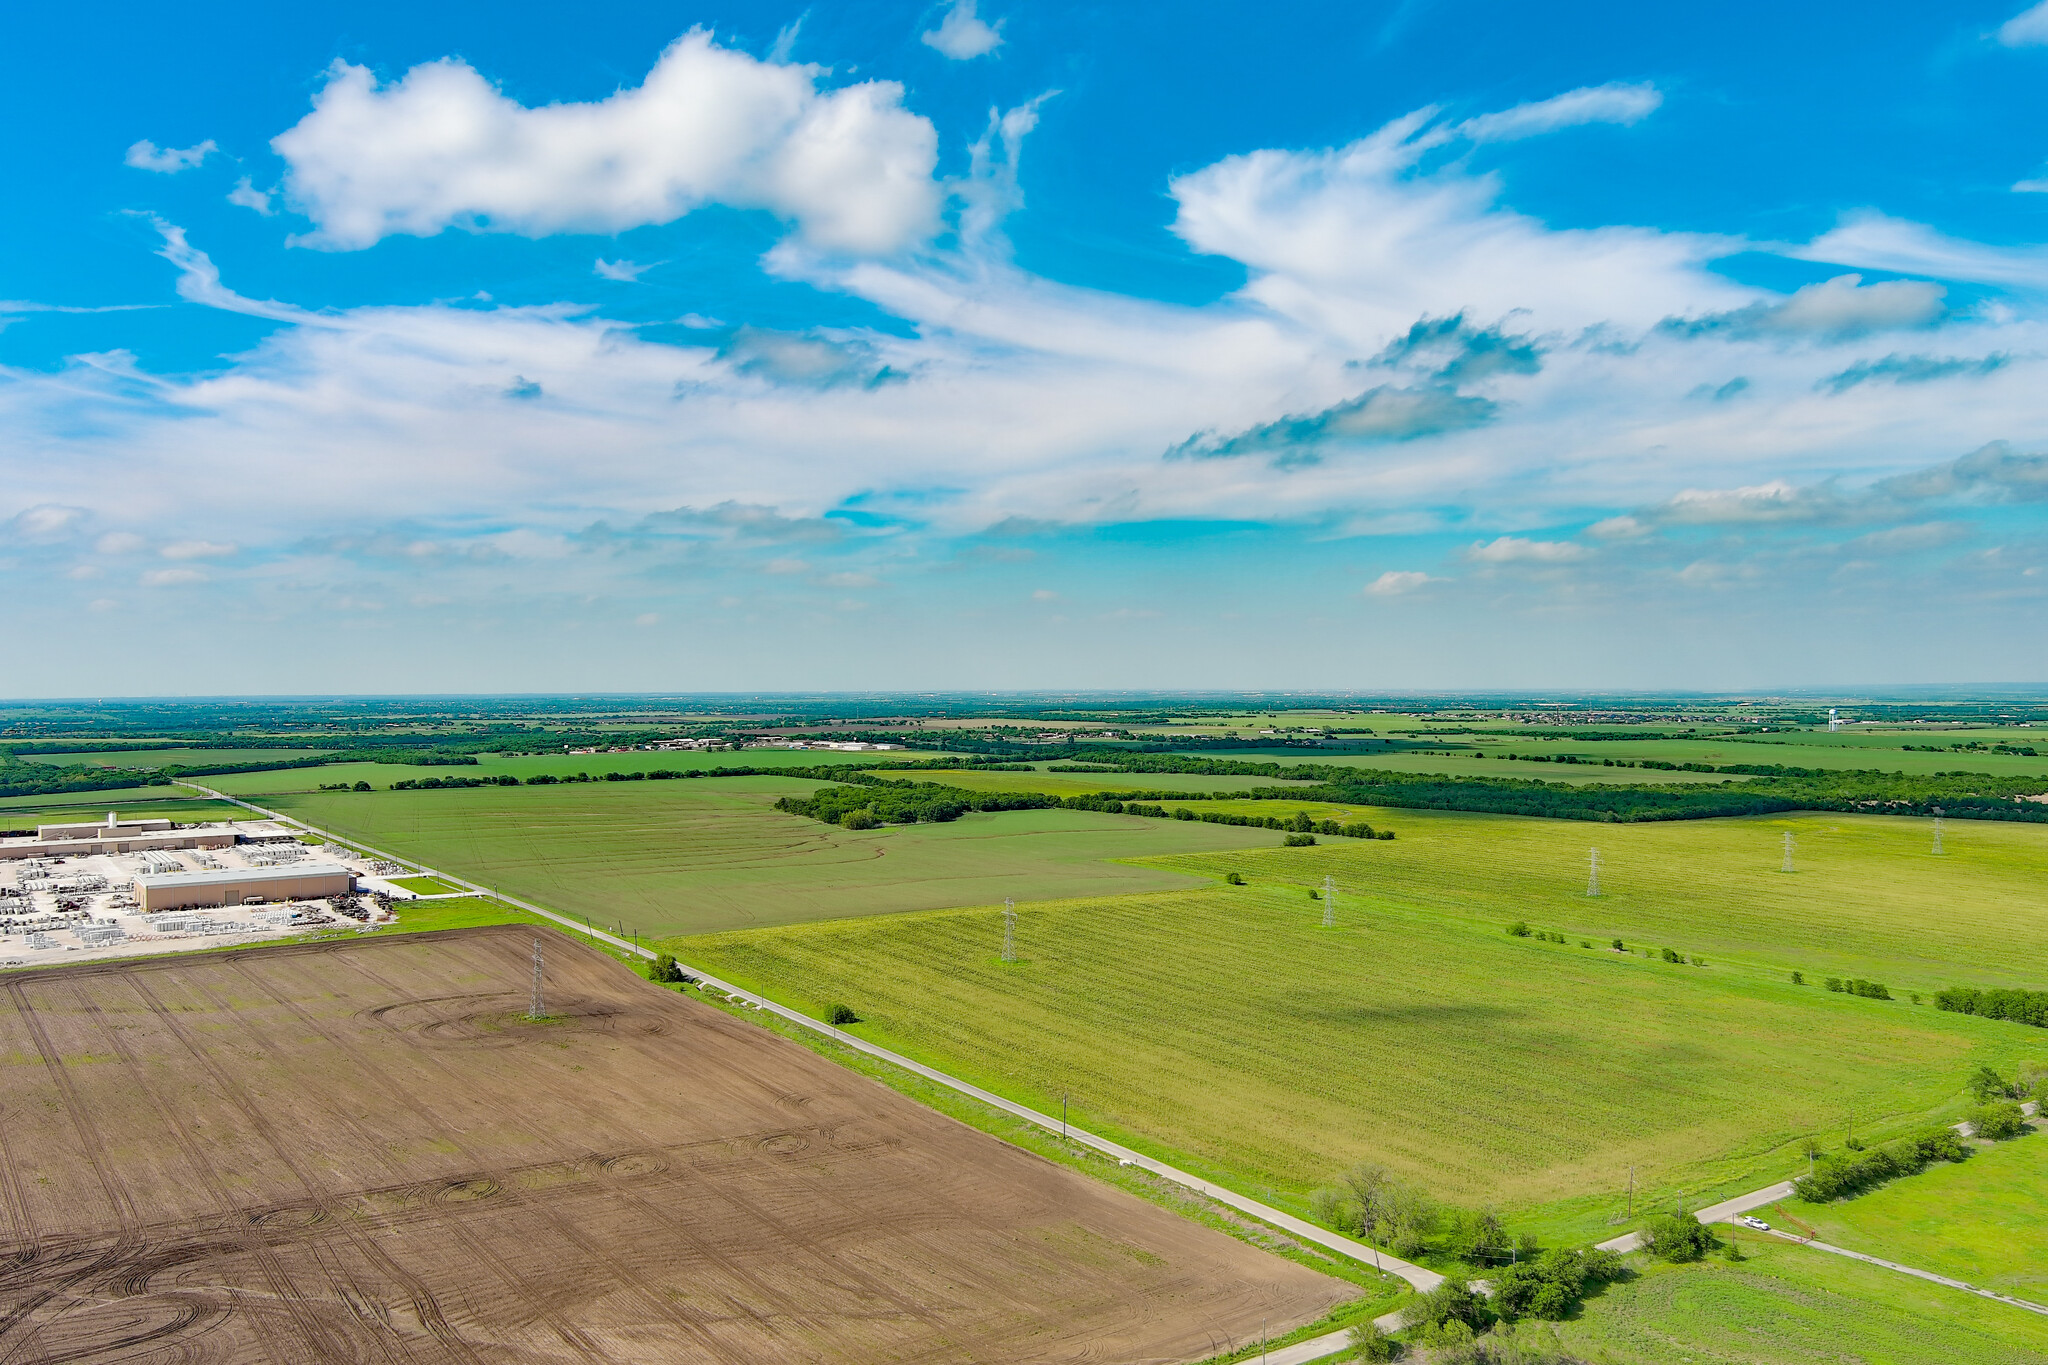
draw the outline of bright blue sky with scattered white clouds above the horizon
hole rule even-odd
[[[0,692],[2048,677],[2048,4],[420,8],[16,20]]]

